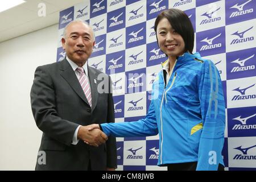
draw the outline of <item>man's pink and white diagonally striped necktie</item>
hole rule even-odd
[[[87,98],[87,101],[89,102],[90,107],[92,107],[92,94],[90,92],[90,85],[88,82],[88,77],[84,73],[84,68],[77,67],[76,70],[79,72],[79,82],[82,87],[82,90],[84,90],[85,97]]]

